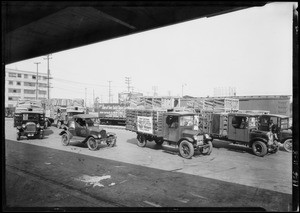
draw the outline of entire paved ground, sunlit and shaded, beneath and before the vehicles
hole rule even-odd
[[[17,141],[13,119],[6,118],[7,204],[11,207],[261,207],[272,211],[292,208],[292,153],[282,147],[275,154],[258,157],[246,146],[214,140],[210,155],[195,152],[191,159],[185,159],[178,149],[165,144],[149,142],[146,147],[137,146],[136,133],[124,127],[103,128],[117,135],[117,145],[91,151],[80,142],[63,146],[59,136],[62,129],[54,125],[45,130],[43,139],[25,137]],[[34,153],[39,149],[41,153]],[[35,177],[36,187],[44,181],[43,190],[49,183],[56,188],[64,185],[64,193],[73,199],[53,200],[58,193],[53,187],[41,195],[45,197],[48,193],[48,197],[32,199],[28,185],[17,187],[23,177],[20,173]],[[67,176],[59,177],[66,173]],[[9,179],[11,176],[15,178]],[[76,193],[84,195],[76,197]]]

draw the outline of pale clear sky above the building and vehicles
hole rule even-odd
[[[161,96],[292,95],[293,2],[269,3],[51,54],[50,98],[91,105],[126,92]],[[47,73],[45,56],[8,64]],[[109,83],[110,82],[110,83]],[[109,87],[110,85],[110,87]],[[216,90],[219,88],[219,90]],[[218,93],[215,93],[218,91]]]

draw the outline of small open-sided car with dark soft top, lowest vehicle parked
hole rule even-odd
[[[106,143],[109,147],[115,146],[117,141],[115,133],[106,132],[99,123],[99,118],[95,115],[74,115],[59,134],[62,144],[67,146],[71,142],[80,141],[86,143],[93,151],[100,149],[101,143]]]

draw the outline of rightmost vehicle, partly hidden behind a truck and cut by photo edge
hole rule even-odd
[[[273,132],[276,133],[278,141],[283,145],[283,148],[287,152],[291,152],[293,146],[293,132],[289,126],[289,117],[276,114],[260,115],[258,129],[262,131],[268,131],[271,120],[274,123]]]

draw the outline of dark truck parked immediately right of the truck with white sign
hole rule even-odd
[[[253,153],[260,157],[276,153],[278,141],[269,130],[259,130],[260,116],[255,113],[212,113],[210,136],[251,147]]]

